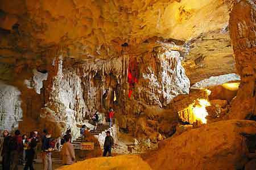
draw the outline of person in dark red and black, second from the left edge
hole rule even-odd
[[[9,142],[10,148],[10,169],[17,170],[19,158],[23,156],[23,141],[20,136],[20,131],[15,130],[14,136],[11,137]]]

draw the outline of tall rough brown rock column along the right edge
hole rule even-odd
[[[232,103],[231,118],[256,114],[256,5],[243,0],[234,6],[229,20],[230,36],[241,84]]]

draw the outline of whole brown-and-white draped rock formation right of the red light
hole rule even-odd
[[[155,48],[153,52],[137,56],[135,60],[137,63],[130,62],[130,65],[137,65],[134,70],[137,75],[134,73],[133,77],[138,82],[127,87],[127,90],[132,91],[130,97],[127,93],[123,94],[123,98],[128,96],[124,104],[127,113],[139,114],[143,111],[139,108],[150,105],[167,107],[178,94],[189,93],[189,80],[178,51],[165,47]]]

